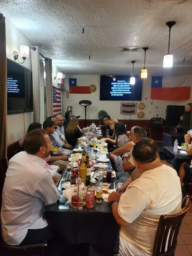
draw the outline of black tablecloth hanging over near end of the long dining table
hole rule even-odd
[[[109,162],[110,163],[110,162]],[[111,163],[110,163],[111,165]],[[44,215],[52,231],[65,246],[76,247],[82,256],[112,256],[119,252],[119,225],[108,202],[94,203],[93,209],[75,210],[63,195],[62,184],[68,180],[65,170],[58,182],[59,201],[46,207]],[[105,178],[104,178],[105,180]],[[111,180],[114,188],[114,179]],[[82,249],[83,248],[83,249]]]

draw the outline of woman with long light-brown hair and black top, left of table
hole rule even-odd
[[[70,123],[65,126],[65,138],[72,147],[77,143],[77,139],[83,134],[79,127],[79,118],[73,117]]]

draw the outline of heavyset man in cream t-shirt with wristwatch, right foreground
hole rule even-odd
[[[132,154],[141,176],[121,197],[113,192],[108,201],[121,226],[119,256],[151,256],[160,216],[181,209],[180,180],[174,169],[161,164],[151,143],[136,143]]]

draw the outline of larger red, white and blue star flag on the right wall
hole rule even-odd
[[[186,100],[190,90],[191,75],[151,77],[151,99]]]

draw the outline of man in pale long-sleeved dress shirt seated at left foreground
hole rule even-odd
[[[59,191],[45,169],[51,142],[44,130],[25,137],[25,150],[9,160],[1,207],[2,237],[7,244],[23,245],[52,239],[43,218],[45,205],[59,199]]]

